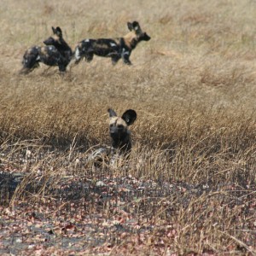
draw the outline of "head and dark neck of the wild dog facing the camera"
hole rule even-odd
[[[128,130],[128,126],[132,125],[137,119],[137,113],[128,109],[119,117],[112,108],[108,108],[108,113],[112,147],[121,151],[131,150],[131,131]]]

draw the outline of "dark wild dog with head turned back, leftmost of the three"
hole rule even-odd
[[[39,62],[49,67],[58,66],[60,72],[65,72],[66,67],[72,57],[72,49],[68,46],[62,37],[61,28],[52,27],[54,35],[44,41],[46,46],[33,46],[27,49],[22,60],[22,69],[20,73],[30,73]]]

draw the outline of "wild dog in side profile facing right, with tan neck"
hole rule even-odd
[[[75,48],[72,64],[78,64],[81,59],[90,62],[93,55],[102,57],[110,57],[113,65],[119,59],[123,59],[124,63],[131,65],[131,51],[136,48],[141,41],[148,41],[150,37],[143,32],[137,21],[128,22],[127,26],[130,30],[123,38],[100,38],[100,39],[84,39]]]

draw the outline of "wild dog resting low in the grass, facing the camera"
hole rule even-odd
[[[129,131],[128,126],[135,122],[137,113],[135,110],[128,109],[119,117],[112,108],[108,108],[108,113],[112,146],[95,150],[90,154],[90,161],[102,162],[104,155],[106,155],[111,162],[114,162],[116,157],[120,155],[127,157],[131,152],[131,131]]]

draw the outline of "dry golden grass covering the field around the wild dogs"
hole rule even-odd
[[[126,207],[144,225],[150,219],[157,227],[139,253],[154,252],[159,239],[166,255],[203,253],[206,248],[255,254],[255,11],[251,0],[4,0],[1,163],[26,173],[5,202],[16,206],[28,198],[42,200],[64,177],[90,177],[94,183],[109,175],[131,176],[163,187],[182,183],[181,194],[163,189],[161,200],[148,194],[130,202],[133,208]],[[123,36],[132,20],[140,22],[151,40],[132,52],[131,67],[121,61],[113,67],[109,59],[95,57],[64,76],[45,66],[27,76],[18,74],[25,50],[42,45],[51,26],[61,26],[74,48],[84,38]],[[109,144],[108,108],[137,111],[125,169],[86,164],[90,148]],[[38,173],[44,181],[39,188],[32,183]],[[29,183],[32,194],[25,193]],[[211,189],[193,194],[186,187],[196,184]],[[227,189],[230,184],[234,195]],[[96,212],[96,202],[88,200],[90,211]],[[245,203],[233,206],[235,201]],[[165,227],[174,230],[173,236],[162,233]],[[115,242],[112,253],[131,243],[126,236]],[[125,253],[138,252],[130,248]]]

